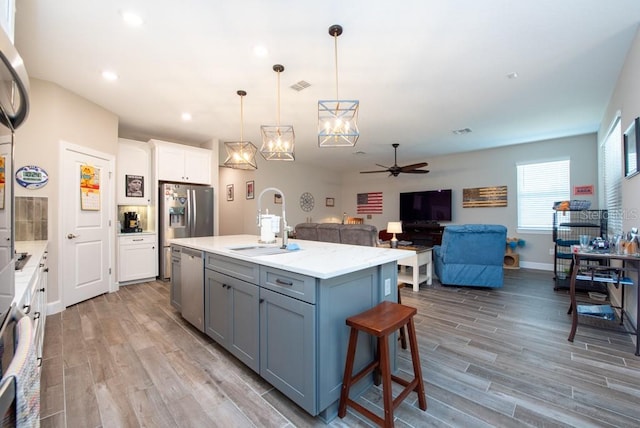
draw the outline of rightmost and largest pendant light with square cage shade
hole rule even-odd
[[[342,27],[340,25],[329,27],[329,35],[334,40],[336,99],[318,101],[319,147],[353,147],[360,137],[358,130],[360,101],[341,100],[338,95],[338,36],[341,34]]]

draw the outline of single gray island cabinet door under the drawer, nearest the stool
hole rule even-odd
[[[317,414],[315,305],[260,288],[260,376]]]

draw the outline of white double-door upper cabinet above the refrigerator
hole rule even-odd
[[[211,150],[150,140],[158,181],[211,184]]]

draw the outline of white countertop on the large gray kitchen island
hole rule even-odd
[[[405,250],[301,239],[289,239],[289,244],[298,244],[300,249],[282,254],[251,257],[231,250],[231,248],[251,245],[264,247],[279,247],[281,245],[281,239],[276,244],[259,244],[258,238],[254,235],[225,235],[179,238],[171,239],[169,242],[320,279],[333,278],[368,267],[379,266],[411,255],[407,254],[408,252]]]

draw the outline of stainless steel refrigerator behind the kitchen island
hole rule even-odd
[[[173,238],[213,236],[213,187],[184,183],[160,183],[160,278],[171,278]]]

